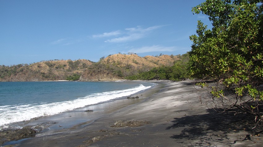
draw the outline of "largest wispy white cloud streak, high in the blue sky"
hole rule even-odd
[[[153,26],[148,28],[137,26],[132,28],[126,28],[123,31],[119,30],[119,31],[112,31],[109,33],[103,33],[100,35],[93,35],[93,38],[117,36],[116,38],[107,39],[104,42],[113,42],[113,43],[128,42],[128,41],[134,41],[146,37],[149,32],[159,29],[161,27],[163,26]]]

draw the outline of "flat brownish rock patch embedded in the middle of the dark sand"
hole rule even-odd
[[[140,127],[145,124],[150,124],[150,121],[146,120],[118,120],[114,123],[114,125],[111,125],[110,127]]]

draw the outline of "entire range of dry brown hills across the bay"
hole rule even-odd
[[[71,80],[110,81],[121,80],[139,71],[153,67],[172,66],[177,56],[146,56],[115,54],[95,63],[86,59],[50,60],[33,64],[0,66],[0,81]]]

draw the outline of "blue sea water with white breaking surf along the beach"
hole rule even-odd
[[[0,82],[0,130],[32,118],[70,112],[126,98],[155,83],[119,82]]]

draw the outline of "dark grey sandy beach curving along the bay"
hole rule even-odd
[[[245,147],[263,144],[261,124],[251,129],[255,123],[246,115],[222,114],[201,106],[194,81],[151,82],[158,85],[133,95],[139,99],[106,103],[103,112],[89,112],[97,116],[94,120],[38,134],[14,146]]]

